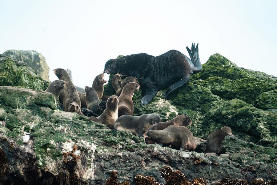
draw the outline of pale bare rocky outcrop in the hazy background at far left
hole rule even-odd
[[[26,50],[7,50],[3,53],[9,56],[13,60],[18,60],[27,63],[38,76],[44,80],[49,80],[49,67],[46,63],[44,56],[37,51],[26,51]]]

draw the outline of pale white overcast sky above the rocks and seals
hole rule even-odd
[[[188,55],[199,43],[201,63],[219,53],[237,66],[277,76],[277,1],[1,0],[0,53],[35,50],[53,69],[72,71],[91,86],[118,55]],[[107,74],[105,75],[107,79]]]

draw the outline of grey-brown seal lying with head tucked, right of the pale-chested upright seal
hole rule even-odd
[[[158,114],[122,115],[115,121],[114,129],[130,131],[135,136],[139,136],[147,132],[151,125],[159,122],[161,122],[161,117]]]

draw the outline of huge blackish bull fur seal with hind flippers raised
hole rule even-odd
[[[187,84],[190,74],[201,71],[198,44],[195,47],[192,43],[191,50],[187,47],[187,51],[191,59],[177,50],[156,57],[140,53],[110,59],[105,64],[104,73],[136,76],[142,86],[142,94],[146,94],[141,105],[148,104],[158,90],[168,88],[164,95],[167,97],[175,89]]]

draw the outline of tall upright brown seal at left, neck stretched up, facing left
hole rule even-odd
[[[72,102],[77,103],[80,107],[81,101],[80,101],[79,94],[74,84],[72,83],[69,74],[66,72],[66,70],[58,68],[58,69],[54,69],[54,73],[59,78],[59,80],[63,80],[67,82],[66,88],[62,89],[59,94],[59,97],[63,104],[64,111],[68,112],[69,104]]]

